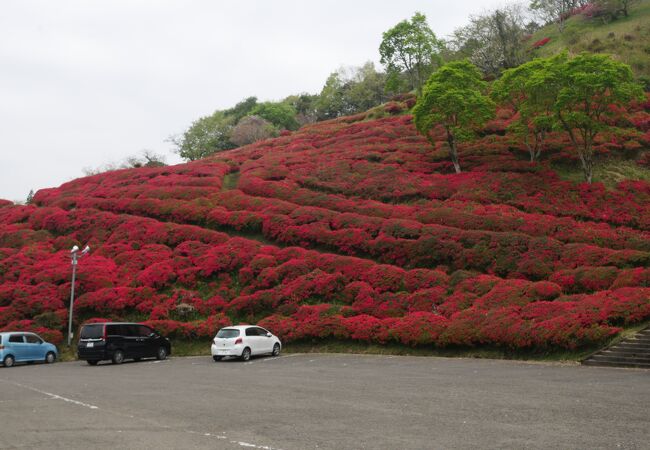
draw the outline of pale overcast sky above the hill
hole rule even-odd
[[[415,11],[444,37],[501,1],[30,1],[0,3],[0,198],[83,175],[245,97],[318,93],[374,61]]]

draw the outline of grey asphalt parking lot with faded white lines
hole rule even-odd
[[[289,354],[0,368],[0,448],[647,448],[650,373]]]

